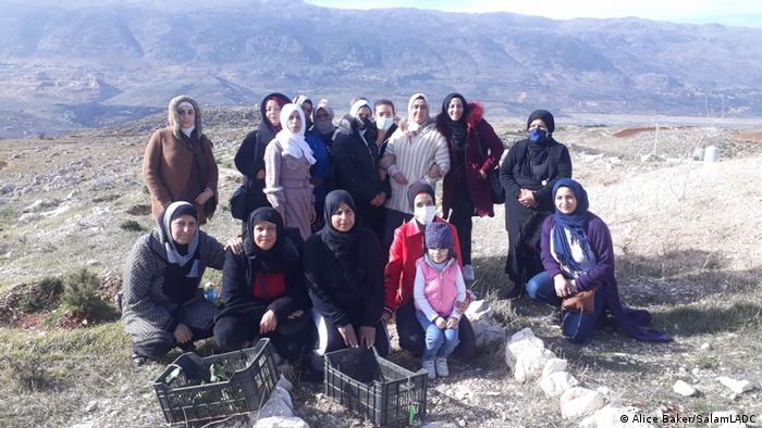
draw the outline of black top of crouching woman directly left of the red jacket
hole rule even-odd
[[[346,263],[325,246],[321,231],[307,238],[304,270],[315,309],[336,327],[374,327],[383,312],[383,253],[381,242],[362,228]],[[346,268],[343,266],[347,266]]]

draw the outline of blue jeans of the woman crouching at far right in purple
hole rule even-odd
[[[527,282],[527,294],[532,300],[545,302],[553,306],[561,306],[561,298],[555,294],[553,278],[546,272],[534,275]],[[573,343],[583,343],[592,337],[595,323],[598,323],[598,318],[603,313],[604,294],[604,289],[598,288],[595,290],[595,309],[592,314],[564,313],[561,329],[566,339]]]

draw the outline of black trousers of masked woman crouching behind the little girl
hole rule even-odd
[[[426,348],[426,332],[416,317],[416,306],[413,300],[400,307],[395,314],[397,323],[397,336],[400,348],[409,351],[413,355],[423,355]],[[464,315],[458,324],[458,338],[460,343],[455,348],[453,355],[460,358],[470,358],[477,353],[476,337],[471,323]]]

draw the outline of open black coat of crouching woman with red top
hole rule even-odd
[[[222,301],[224,303],[219,317],[250,312],[272,310],[279,323],[283,323],[291,313],[310,307],[305,288],[304,272],[299,259],[298,243],[287,236],[283,242],[283,274],[286,294],[274,300],[261,300],[254,295],[251,288],[255,275],[261,265],[256,256],[225,253],[222,268]]]

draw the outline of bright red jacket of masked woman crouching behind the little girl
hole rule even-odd
[[[447,223],[440,217],[434,222]],[[453,244],[458,256],[458,264],[463,266],[460,259],[460,241],[457,238],[455,226],[450,225],[453,234]],[[389,263],[384,269],[383,306],[396,312],[400,306],[413,299],[413,285],[416,280],[416,262],[423,256],[423,232],[418,223],[411,219],[394,230],[394,241],[389,249]]]

